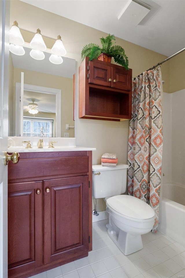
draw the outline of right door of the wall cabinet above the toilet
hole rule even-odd
[[[123,67],[112,67],[112,88],[130,91],[132,85],[132,71]]]

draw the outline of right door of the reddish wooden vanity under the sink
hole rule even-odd
[[[88,176],[44,181],[44,264],[88,250]]]

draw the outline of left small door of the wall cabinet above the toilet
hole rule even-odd
[[[111,87],[111,67],[89,61],[89,83]]]

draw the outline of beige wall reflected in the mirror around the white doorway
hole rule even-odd
[[[64,132],[69,132],[69,137],[74,137],[74,129],[66,130],[66,124],[74,126],[73,121],[73,79],[61,76],[45,74],[42,72],[33,72],[30,70],[14,68],[14,100],[15,100],[15,83],[21,82],[21,72],[24,72],[24,83],[54,89],[61,89],[61,128],[62,137]],[[15,109],[15,105],[14,105]],[[15,115],[15,110],[14,110]],[[30,116],[30,114],[29,114]],[[43,115],[41,114],[41,117]],[[53,118],[53,117],[52,117]],[[15,117],[14,117],[15,119]],[[15,130],[15,121],[14,121]]]

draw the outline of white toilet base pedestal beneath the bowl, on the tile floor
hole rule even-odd
[[[113,227],[110,222],[106,225],[106,228],[109,237],[124,255],[130,255],[143,249],[141,235],[131,235],[126,233],[116,226]]]

